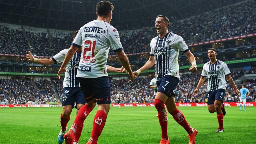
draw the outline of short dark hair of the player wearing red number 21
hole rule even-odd
[[[96,5],[96,12],[98,16],[107,16],[113,9],[114,6],[109,1],[100,1]]]

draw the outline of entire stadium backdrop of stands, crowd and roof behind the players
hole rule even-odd
[[[51,58],[70,47],[72,33],[96,19],[98,0],[2,0],[0,1],[0,102],[1,104],[56,104],[62,96],[62,81],[56,75],[60,65],[28,63],[30,50],[38,58]],[[154,20],[166,15],[169,31],[182,36],[196,57],[198,72],[188,71],[189,63],[180,53],[181,81],[175,90],[177,102],[205,102],[206,83],[192,96],[207,49],[217,49],[217,59],[228,64],[233,79],[245,84],[256,95],[256,3],[254,0],[111,0],[115,9],[111,24],[119,31],[125,53],[133,70],[149,58],[150,40],[157,36]],[[120,68],[110,50],[107,64]],[[153,103],[149,88],[154,68],[128,83],[128,75],[109,73],[112,102],[118,91],[123,103]],[[62,76],[63,78],[63,76]],[[228,84],[232,102],[238,97]],[[60,103],[61,104],[61,103]]]

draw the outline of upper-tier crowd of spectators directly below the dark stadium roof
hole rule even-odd
[[[255,1],[230,5],[185,20],[170,22],[169,31],[180,35],[188,44],[256,33],[255,8]],[[5,54],[24,55],[27,50],[33,50],[37,56],[53,56],[56,52],[69,48],[72,41],[72,33],[49,37],[47,33],[26,32],[31,44],[31,48],[28,48],[28,42],[21,29],[14,31],[0,25],[0,34],[0,47],[4,48],[0,49],[0,53]],[[126,53],[149,52],[150,41],[155,36],[157,33],[154,27],[130,33],[120,32],[121,43]],[[113,51],[109,54],[115,55]]]

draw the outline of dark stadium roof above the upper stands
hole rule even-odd
[[[1,0],[0,21],[11,24],[77,30],[94,20],[100,0]],[[244,0],[110,0],[111,24],[118,30],[153,26],[157,15],[170,21],[218,9]]]

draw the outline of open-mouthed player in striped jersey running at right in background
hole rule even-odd
[[[223,116],[226,114],[225,107],[223,102],[223,99],[225,97],[225,91],[226,91],[226,77],[232,87],[234,88],[234,91],[237,94],[239,93],[239,90],[236,87],[236,84],[234,83],[231,73],[228,69],[227,64],[225,64],[222,61],[219,61],[216,59],[217,52],[214,48],[210,48],[207,51],[208,58],[210,59],[209,62],[205,63],[202,70],[202,76],[199,79],[199,82],[197,84],[196,89],[194,90],[193,94],[194,96],[198,92],[198,89],[203,84],[205,77],[208,77],[207,82],[207,98],[208,98],[208,110],[210,113],[217,113],[217,119],[219,122],[219,128],[216,132],[223,132]]]

